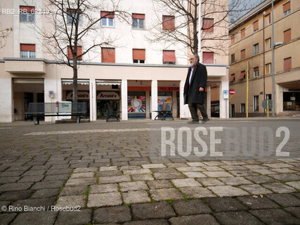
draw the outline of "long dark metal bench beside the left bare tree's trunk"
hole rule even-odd
[[[30,103],[26,115],[33,117],[33,123],[39,124],[41,117],[77,117],[77,124],[87,113],[86,103]],[[37,122],[37,123],[36,123]]]

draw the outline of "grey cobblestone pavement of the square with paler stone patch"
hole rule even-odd
[[[300,224],[299,124],[0,124],[0,224]],[[161,127],[183,126],[285,126],[289,157],[160,157]]]

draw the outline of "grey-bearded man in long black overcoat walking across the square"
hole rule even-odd
[[[184,86],[184,103],[188,104],[192,121],[189,124],[198,124],[199,117],[197,109],[202,114],[202,124],[207,122],[207,110],[204,105],[205,87],[207,86],[207,68],[205,65],[199,63],[199,56],[190,57],[190,68],[188,69],[188,76],[185,80]]]

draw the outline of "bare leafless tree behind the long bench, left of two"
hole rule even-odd
[[[72,102],[76,103],[78,69],[83,56],[101,46],[112,46],[117,39],[104,34],[101,20],[112,16],[126,20],[126,13],[119,9],[119,1],[114,0],[46,1],[48,11],[52,12],[47,17],[50,27],[34,27],[43,38],[48,53],[72,68]]]

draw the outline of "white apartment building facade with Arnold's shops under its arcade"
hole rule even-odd
[[[119,7],[127,10],[130,23],[125,23],[114,13],[107,13],[110,12],[107,4],[100,12],[107,16],[103,14],[98,29],[106,36],[115,37],[115,41],[110,46],[89,52],[79,62],[78,101],[88,103],[89,119],[104,119],[110,110],[122,111],[122,120],[154,119],[152,112],[168,101],[174,102],[174,117],[190,117],[188,106],[183,105],[183,86],[188,71],[187,47],[179,42],[171,45],[153,43],[147,38],[155,18],[161,18],[162,29],[170,30],[172,23],[181,23],[181,19],[176,15],[157,15],[151,0],[121,1]],[[1,8],[15,13],[3,11],[5,13],[1,15],[0,26],[12,27],[13,31],[0,49],[0,122],[26,120],[30,102],[72,101],[72,68],[47,51],[46,42],[37,32],[37,27],[51,29],[41,13],[46,8],[46,1],[6,1],[1,2]],[[166,25],[164,18],[170,17],[171,23],[168,20]],[[184,27],[182,32],[187,32]],[[79,52],[88,48],[93,38],[86,37]],[[66,54],[72,57],[70,49]],[[204,60],[208,56],[211,57],[211,53],[204,55]],[[220,98],[222,96],[220,117],[228,117],[228,101],[222,95],[223,90],[228,90],[227,61],[226,57],[214,55],[214,61],[206,63],[209,75],[207,108],[210,108],[210,85],[218,83]],[[50,92],[54,97],[49,95]],[[45,117],[45,121],[53,119]]]

